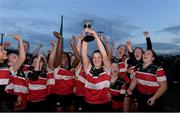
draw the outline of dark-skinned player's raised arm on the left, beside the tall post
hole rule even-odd
[[[54,68],[57,68],[61,63],[60,57],[63,53],[63,39],[62,39],[62,36],[58,32],[54,31],[53,34],[58,39],[58,44],[56,48],[56,57],[54,60]]]

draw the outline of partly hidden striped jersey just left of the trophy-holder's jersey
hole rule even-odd
[[[76,85],[75,85],[75,94],[78,96],[84,96],[85,82],[86,82],[86,73],[81,65],[78,70],[75,71],[76,75]]]

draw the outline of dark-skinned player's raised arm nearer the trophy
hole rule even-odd
[[[76,66],[80,62],[80,55],[79,55],[79,53],[78,53],[78,51],[76,49],[75,41],[76,41],[76,37],[73,35],[72,38],[71,38],[71,43],[70,43],[71,44],[71,48],[72,48],[73,53],[74,53],[74,57],[75,57],[75,59],[74,59],[74,61],[72,63],[72,67],[73,68],[76,68]]]

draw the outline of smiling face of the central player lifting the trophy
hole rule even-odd
[[[102,66],[102,56],[101,56],[100,52],[93,53],[92,61],[96,68],[99,68]]]

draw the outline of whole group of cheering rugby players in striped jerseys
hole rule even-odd
[[[163,68],[156,65],[148,32],[147,50],[132,42],[115,48],[90,29],[98,49],[88,53],[90,43],[80,33],[72,36],[73,52],[64,52],[63,37],[53,32],[47,54],[29,54],[29,43],[19,35],[19,50],[0,45],[0,111],[30,112],[152,112],[163,111],[167,90]],[[116,55],[114,54],[116,49]]]

